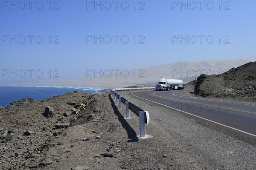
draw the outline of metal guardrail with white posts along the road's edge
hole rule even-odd
[[[135,113],[140,118],[140,135],[137,136],[140,139],[151,138],[152,136],[146,135],[145,131],[145,124],[148,126],[149,124],[149,113],[148,111],[143,110],[142,108],[132,104],[130,101],[123,98],[119,95],[118,91],[126,91],[126,90],[140,90],[140,89],[155,89],[154,87],[136,87],[136,88],[117,88],[111,90],[111,98],[113,101],[116,101],[116,104],[119,104],[119,109],[122,109],[122,103],[125,104],[125,113],[126,118],[129,119],[130,117],[130,110]]]

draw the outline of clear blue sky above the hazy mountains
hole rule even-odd
[[[2,81],[239,59],[256,54],[256,1],[0,0],[0,36]]]

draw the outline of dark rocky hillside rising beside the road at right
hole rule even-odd
[[[256,62],[232,68],[220,75],[198,77],[195,95],[213,98],[236,98],[256,101]]]

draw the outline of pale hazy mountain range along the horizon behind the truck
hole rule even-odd
[[[122,72],[119,70],[115,77],[114,71],[112,75],[96,75],[86,77],[72,77],[72,78],[55,78],[46,80],[30,80],[28,81],[0,81],[0,85],[41,85],[41,86],[87,86],[87,87],[127,87],[133,85],[150,85],[154,86],[161,77],[182,79],[184,83],[195,80],[201,74],[221,74],[227,70],[244,65],[250,61],[255,61],[255,57],[221,60],[221,61],[180,61],[177,63],[168,63],[158,66],[151,66],[147,68],[135,69],[136,71]],[[110,69],[111,70],[111,69]]]

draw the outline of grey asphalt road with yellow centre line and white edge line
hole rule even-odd
[[[206,98],[185,97],[189,90],[143,91],[132,94],[192,115],[217,122],[249,135],[256,135],[256,106]]]

